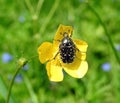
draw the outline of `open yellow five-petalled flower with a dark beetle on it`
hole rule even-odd
[[[47,62],[46,70],[51,81],[62,81],[63,70],[74,78],[82,78],[88,70],[88,63],[85,60],[88,45],[85,41],[78,39],[72,40],[72,32],[73,28],[71,26],[60,25],[55,34],[53,44],[50,42],[44,42],[38,48],[39,60],[41,63]],[[74,51],[72,51],[73,55],[71,55],[72,60],[69,60],[70,58],[63,58],[61,55],[69,55],[65,54],[66,51],[62,53],[62,48],[60,47],[61,44],[63,46],[63,44],[66,43],[66,41],[63,43],[63,39],[65,37],[70,39],[70,42],[72,42],[71,46],[73,46],[72,49]],[[67,53],[69,52],[70,51]],[[65,59],[67,62],[63,61],[63,59]]]

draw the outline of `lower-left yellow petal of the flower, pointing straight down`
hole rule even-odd
[[[59,82],[63,80],[63,72],[59,60],[53,59],[48,62],[46,69],[50,81]]]

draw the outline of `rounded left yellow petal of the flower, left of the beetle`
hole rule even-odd
[[[46,61],[54,58],[56,53],[57,50],[50,42],[44,42],[38,47],[39,60],[41,63],[45,63]]]

